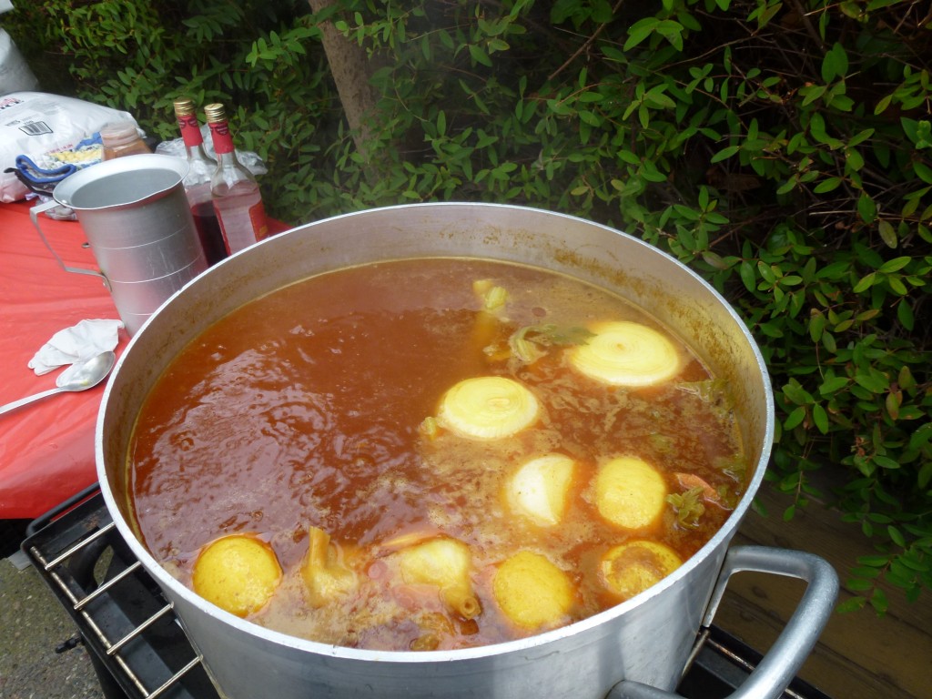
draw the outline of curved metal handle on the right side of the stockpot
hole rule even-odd
[[[764,655],[747,681],[728,696],[728,699],[777,699],[799,671],[829,621],[838,597],[838,574],[828,561],[817,555],[766,546],[735,546],[725,556],[719,582],[716,583],[703,619],[704,627],[712,624],[729,579],[742,570],[787,575],[808,583],[799,606],[774,641],[774,646]],[[624,679],[611,689],[606,699],[675,697],[678,694],[674,692]]]

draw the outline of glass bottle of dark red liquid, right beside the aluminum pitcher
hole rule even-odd
[[[213,210],[211,194],[211,176],[217,163],[204,150],[204,138],[200,133],[194,102],[186,97],[175,100],[174,110],[187,151],[189,169],[184,183],[187,203],[194,216],[194,225],[198,229],[200,246],[204,249],[207,264],[213,265],[226,257],[226,243],[220,222],[217,221],[217,213]]]

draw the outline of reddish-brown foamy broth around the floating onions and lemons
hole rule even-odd
[[[504,290],[503,304],[484,306],[478,288]],[[569,351],[586,341],[585,328],[606,321],[660,331],[677,345],[681,368],[633,389],[576,371]],[[530,341],[533,357],[516,356],[515,337]],[[446,391],[493,376],[533,393],[539,413],[527,428],[474,439],[438,424]],[[555,495],[515,498],[509,488],[545,455],[570,459],[571,475],[563,469],[554,481],[563,489],[556,510],[529,516],[533,502]],[[618,459],[649,464],[668,493],[637,528],[603,516],[596,501],[600,470]],[[128,468],[143,542],[179,580],[191,584],[211,541],[257,536],[283,578],[250,621],[374,650],[495,643],[607,609],[623,599],[604,577],[610,566],[621,574],[621,559],[603,560],[608,552],[658,541],[685,560],[745,485],[727,387],[661,324],[566,276],[465,259],[353,267],[239,308],[159,378]],[[308,572],[310,541],[324,548]],[[452,543],[425,546],[437,541]],[[461,545],[458,577],[410,572],[412,560],[430,567],[434,559],[459,570],[460,553],[443,558]],[[637,565],[650,567],[650,547],[641,550],[648,554]],[[495,593],[503,563],[522,552],[545,557],[571,591],[567,602],[562,582],[543,581],[541,589],[559,587],[559,604],[545,606],[557,610],[549,615],[525,613],[543,620],[533,627],[515,623],[514,600]],[[668,571],[669,557],[657,566]],[[308,592],[314,581],[319,589]],[[505,583],[498,588],[514,587]]]

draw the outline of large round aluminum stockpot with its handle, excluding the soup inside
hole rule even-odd
[[[220,610],[175,581],[135,538],[127,501],[133,423],[168,363],[212,322],[284,284],[340,267],[438,255],[526,263],[596,283],[646,309],[691,344],[733,389],[753,470],[725,525],[675,573],[617,607],[538,636],[459,651],[364,651],[289,637]],[[736,694],[766,699],[782,691],[811,650],[838,586],[834,570],[813,555],[728,550],[761,485],[773,428],[773,396],[759,350],[732,308],[687,267],[641,240],[579,218],[515,206],[438,203],[301,226],[190,282],[145,323],[117,363],[103,396],[96,456],[117,528],[173,603],[219,691],[231,699],[670,696],[697,630],[711,622],[728,577],[741,569],[809,583],[774,648]]]

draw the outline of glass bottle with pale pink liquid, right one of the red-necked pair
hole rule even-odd
[[[268,237],[266,209],[253,173],[237,158],[224,105],[208,104],[204,115],[211,127],[217,156],[217,167],[211,177],[213,208],[220,220],[227,252],[238,253]]]

